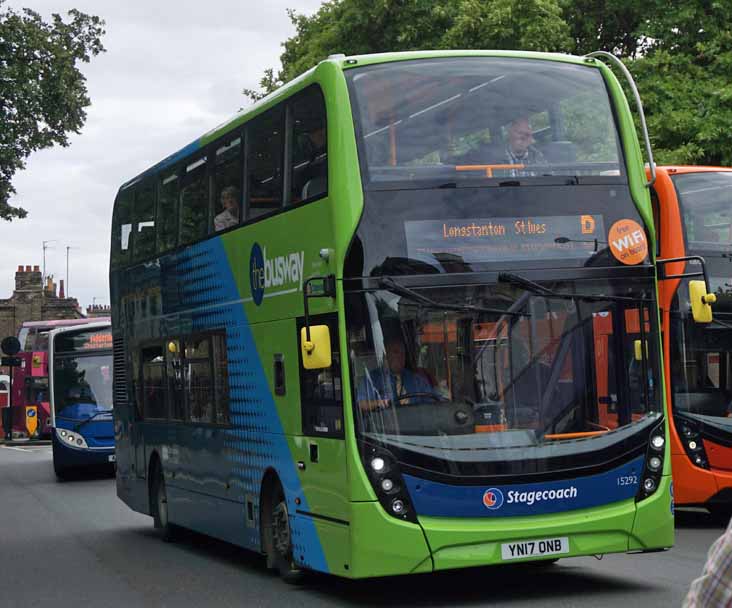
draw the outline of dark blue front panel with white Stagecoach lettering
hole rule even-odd
[[[638,493],[644,457],[587,477],[505,486],[455,486],[404,475],[418,515],[517,517],[597,507]]]

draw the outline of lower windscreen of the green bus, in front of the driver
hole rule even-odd
[[[471,450],[521,459],[527,449],[541,459],[656,420],[658,359],[642,335],[653,317],[642,285],[562,281],[556,297],[503,284],[349,294],[358,432],[448,459]],[[637,336],[621,319],[637,319],[639,307],[650,347],[635,349],[636,360]]]

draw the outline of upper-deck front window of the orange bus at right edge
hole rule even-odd
[[[732,245],[732,172],[672,177],[690,249],[728,250]]]

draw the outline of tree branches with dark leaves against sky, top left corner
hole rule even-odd
[[[104,21],[77,10],[44,21],[29,9],[0,0],[0,218],[27,212],[10,204],[12,178],[28,156],[79,133],[90,104],[78,69],[104,51]]]

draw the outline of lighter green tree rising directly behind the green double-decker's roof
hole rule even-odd
[[[288,14],[295,35],[282,43],[280,70],[265,70],[260,90],[244,90],[254,100],[333,53],[572,44],[559,0],[330,0],[313,15]]]

